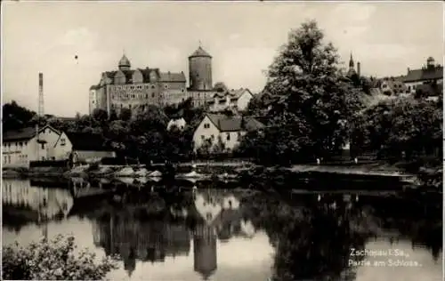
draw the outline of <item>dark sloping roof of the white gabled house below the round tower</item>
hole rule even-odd
[[[220,132],[255,131],[264,127],[264,124],[251,116],[226,116],[212,113],[207,113],[206,116]]]

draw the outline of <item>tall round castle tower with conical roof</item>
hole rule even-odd
[[[211,90],[212,84],[212,56],[199,46],[198,50],[189,57],[190,90]]]

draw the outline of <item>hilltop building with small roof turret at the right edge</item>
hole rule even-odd
[[[407,91],[416,93],[417,85],[420,84],[441,84],[443,83],[443,66],[435,65],[434,59],[429,57],[426,66],[418,69],[409,69],[403,82],[408,88]]]

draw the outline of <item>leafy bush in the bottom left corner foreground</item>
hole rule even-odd
[[[115,258],[94,261],[86,249],[74,253],[74,237],[43,238],[27,247],[17,242],[3,247],[2,279],[9,280],[100,280],[117,269]]]

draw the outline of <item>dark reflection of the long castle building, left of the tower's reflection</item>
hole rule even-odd
[[[93,222],[94,245],[107,254],[119,254],[131,275],[136,260],[164,261],[166,256],[188,255],[190,232],[185,225],[164,221],[138,221],[111,215],[109,221]]]

